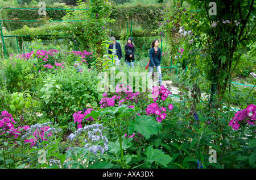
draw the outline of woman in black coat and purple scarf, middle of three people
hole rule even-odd
[[[125,43],[125,62],[128,66],[134,68],[134,53],[135,53],[135,44],[133,43],[133,38],[129,37]]]

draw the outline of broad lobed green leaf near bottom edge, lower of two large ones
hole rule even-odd
[[[152,164],[152,162],[156,162],[156,164],[163,165],[167,167],[167,165],[172,161],[172,158],[168,154],[164,154],[162,150],[153,149],[152,146],[148,146],[146,149],[146,161]]]

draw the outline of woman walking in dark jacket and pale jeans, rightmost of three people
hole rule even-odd
[[[150,63],[148,65],[148,74],[153,73],[154,68],[158,72],[159,84],[162,85],[162,72],[161,72],[161,49],[158,47],[159,41],[157,39],[152,41],[151,48],[149,51]]]

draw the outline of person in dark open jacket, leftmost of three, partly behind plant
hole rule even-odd
[[[120,65],[120,60],[123,56],[121,45],[120,45],[120,43],[115,41],[115,37],[113,37],[113,36],[110,38],[110,40],[112,40],[113,43],[109,45],[108,53],[109,53],[109,55],[112,55],[112,54],[114,55],[113,59],[115,60],[115,65],[119,66]],[[110,50],[110,49],[112,49],[112,50]]]

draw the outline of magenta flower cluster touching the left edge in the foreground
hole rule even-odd
[[[24,125],[23,127],[18,127],[15,128],[14,124],[16,124],[15,120],[13,119],[13,116],[8,113],[8,111],[2,111],[1,115],[0,115],[0,130],[2,130],[3,132],[0,135],[5,134],[6,132],[9,135],[14,136],[14,138],[19,137],[20,135],[20,131],[22,131],[23,129],[28,129],[29,126],[28,125]]]

